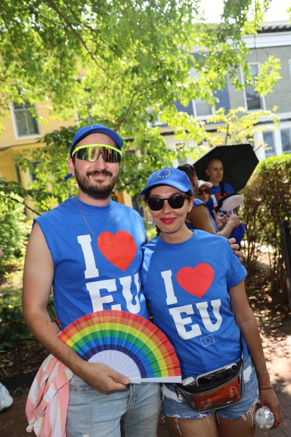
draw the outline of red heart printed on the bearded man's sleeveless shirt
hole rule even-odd
[[[136,253],[136,244],[133,237],[126,231],[116,234],[102,232],[97,240],[101,254],[118,269],[127,269]]]

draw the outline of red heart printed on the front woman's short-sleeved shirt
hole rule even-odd
[[[177,272],[177,283],[188,293],[201,298],[214,278],[214,270],[207,263],[197,264],[196,267],[182,267]]]

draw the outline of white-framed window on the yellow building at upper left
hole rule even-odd
[[[31,105],[29,103],[13,103],[12,106],[17,137],[39,135],[38,123],[29,111]]]

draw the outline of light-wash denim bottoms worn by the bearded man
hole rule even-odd
[[[102,394],[77,375],[70,380],[66,437],[155,437],[160,384],[128,384]]]

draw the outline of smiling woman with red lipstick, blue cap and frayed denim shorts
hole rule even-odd
[[[244,267],[225,238],[185,225],[193,203],[185,173],[156,171],[141,194],[159,229],[159,236],[143,247],[143,290],[154,323],[175,349],[183,382],[225,366],[232,371],[243,352],[244,392],[231,406],[196,412],[177,396],[173,384],[163,384],[163,416],[171,435],[251,437],[258,394],[259,403],[273,411],[276,427],[279,404],[245,296]]]

